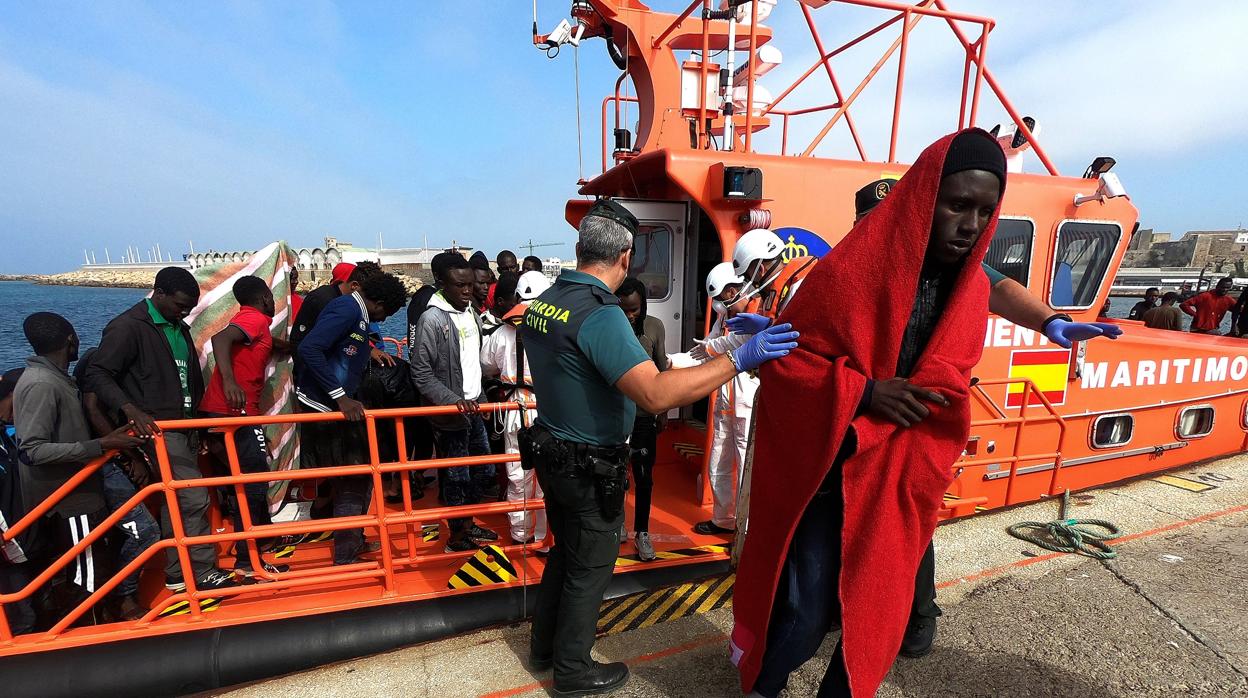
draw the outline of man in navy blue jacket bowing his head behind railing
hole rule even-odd
[[[406,300],[407,291],[396,276],[383,272],[369,277],[358,291],[329,301],[300,343],[295,375],[300,411],[342,412],[347,417],[347,423],[300,425],[305,467],[349,466],[369,461],[364,406],[356,398],[368,365],[368,325],[394,315]],[[367,512],[371,488],[369,476],[336,478],[334,518]],[[357,562],[362,552],[366,552],[362,528],[334,532],[334,564]]]

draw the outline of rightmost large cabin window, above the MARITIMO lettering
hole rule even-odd
[[[1118,224],[1063,222],[1057,229],[1048,305],[1066,310],[1092,307],[1121,237],[1122,226]]]

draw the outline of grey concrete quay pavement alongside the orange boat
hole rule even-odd
[[[880,696],[1248,697],[1248,456],[1173,474],[1214,488],[1141,479],[1073,499],[1068,516],[1122,527],[1114,561],[1051,554],[1005,533],[1056,518],[1052,502],[940,527],[936,647],[899,659]],[[614,696],[739,696],[730,628],[721,608],[604,637],[595,654],[633,668]],[[544,696],[549,673],[520,664],[527,632],[483,631],[217,694]],[[786,696],[815,694],[831,639]]]

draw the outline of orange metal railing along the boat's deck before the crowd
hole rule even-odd
[[[529,405],[528,407],[532,407]],[[510,410],[523,408],[519,403],[485,403],[480,406],[482,412],[502,412]],[[160,471],[160,482],[154,482],[146,487],[139,489],[125,504],[117,507],[107,518],[104,519],[89,536],[86,536],[77,544],[71,547],[69,551],[64,552],[56,561],[54,561],[46,569],[40,572],[29,584],[22,589],[14,593],[0,594],[0,643],[12,641],[12,633],[7,623],[7,618],[4,613],[4,606],[22,599],[30,598],[40,587],[46,584],[56,576],[60,571],[65,569],[75,557],[82,553],[89,546],[99,542],[102,536],[105,536],[114,526],[116,526],[121,518],[126,516],[134,507],[144,503],[145,499],[156,494],[163,493],[165,506],[170,509],[170,522],[172,531],[170,537],[162,538],[157,543],[152,544],[139,554],[129,564],[119,569],[112,577],[104,582],[94,593],[91,593],[86,599],[84,599],[79,606],[70,609],[56,624],[51,627],[46,633],[45,638],[55,638],[69,629],[76,621],[79,621],[84,614],[91,611],[99,602],[101,602],[109,593],[112,592],[126,577],[141,569],[147,562],[157,553],[167,548],[176,548],[182,569],[182,578],[186,582],[186,592],[175,593],[163,599],[162,603],[154,606],[141,619],[134,622],[120,622],[115,623],[114,627],[121,631],[129,631],[132,628],[139,628],[147,626],[156,621],[160,614],[172,606],[182,601],[188,602],[188,611],[192,619],[200,619],[202,617],[203,609],[201,608],[201,602],[210,596],[212,598],[235,597],[242,594],[253,593],[271,593],[273,591],[281,589],[295,589],[301,587],[312,587],[318,584],[326,584],[332,582],[347,582],[347,581],[366,581],[366,579],[379,579],[383,596],[392,597],[397,594],[394,572],[401,568],[418,568],[424,563],[444,562],[447,559],[469,557],[469,552],[459,553],[436,553],[436,554],[417,554],[417,536],[421,531],[421,522],[438,521],[446,518],[459,518],[482,514],[497,514],[505,512],[517,512],[527,509],[538,509],[543,507],[540,499],[532,501],[519,501],[519,502],[493,502],[483,504],[464,504],[457,507],[433,507],[424,509],[414,509],[412,506],[412,491],[411,483],[407,477],[399,478],[402,481],[402,494],[403,506],[402,511],[392,513],[387,511],[383,493],[382,476],[384,473],[407,473],[412,471],[423,471],[429,468],[449,468],[459,466],[482,466],[482,465],[502,465],[519,460],[519,456],[514,453],[504,455],[490,455],[490,456],[469,456],[462,458],[434,458],[427,461],[409,461],[407,457],[407,438],[404,432],[403,418],[404,417],[429,417],[434,415],[451,415],[456,413],[456,406],[443,406],[443,407],[407,407],[407,408],[394,408],[394,410],[371,410],[364,413],[364,422],[368,433],[368,446],[369,446],[369,462],[364,465],[352,465],[352,466],[332,466],[332,467],[318,467],[308,469],[291,469],[291,471],[271,471],[265,473],[243,473],[238,465],[238,453],[233,442],[233,432],[241,427],[251,427],[257,425],[275,425],[275,423],[308,423],[308,422],[333,422],[343,421],[343,416],[338,412],[331,413],[303,413],[303,415],[281,415],[281,416],[263,416],[263,417],[228,417],[228,418],[213,418],[213,420],[180,420],[158,422],[160,427],[166,432],[187,431],[187,430],[212,430],[215,432],[221,432],[226,436],[226,453],[228,461],[230,474],[217,476],[217,477],[197,477],[193,479],[173,479],[172,471],[170,467],[168,450],[165,442],[163,435],[158,435],[155,438],[155,452],[156,462]],[[378,441],[377,441],[377,421],[378,420],[393,420],[396,430],[396,442],[397,451],[399,453],[399,460],[394,462],[382,462],[379,458]],[[77,486],[85,482],[89,477],[96,473],[109,460],[111,455],[105,455],[101,458],[96,458],[91,463],[86,465],[81,471],[79,471],[74,477],[71,477],[65,484],[57,488],[47,499],[36,506],[30,511],[21,521],[16,522],[12,527],[0,536],[2,541],[10,541],[14,537],[21,534],[24,531],[30,528],[35,522],[47,514],[52,507],[61,502],[67,494],[70,494]],[[319,478],[333,478],[333,477],[349,477],[349,476],[362,476],[367,474],[372,477],[373,481],[373,494],[371,509],[373,513],[366,513],[363,516],[353,517],[339,517],[329,519],[314,519],[314,521],[300,521],[292,523],[272,523],[266,526],[251,526],[251,512],[247,506],[247,498],[243,492],[243,486],[253,482],[273,482],[273,481],[305,481],[305,479],[319,479]],[[193,487],[235,487],[237,493],[237,506],[240,507],[241,518],[243,521],[242,531],[233,531],[227,533],[212,533],[206,536],[193,536],[187,537],[186,531],[182,526],[182,517],[178,508],[177,492],[180,489],[187,489]],[[401,526],[402,533],[396,534],[392,532],[392,526]],[[321,567],[311,569],[298,569],[288,571],[276,574],[270,574],[265,572],[261,564],[260,552],[257,544],[248,546],[251,554],[252,569],[260,577],[262,577],[268,583],[266,584],[252,584],[252,586],[238,586],[228,587],[223,589],[213,589],[211,592],[202,592],[196,589],[195,574],[191,571],[191,559],[188,553],[190,546],[196,544],[217,544],[217,543],[231,543],[236,541],[252,541],[255,543],[258,538],[270,538],[278,536],[295,536],[312,532],[322,531],[339,531],[348,528],[363,528],[371,527],[376,528],[378,537],[381,539],[381,561],[379,564],[376,562],[359,562],[353,564],[343,564],[334,567]],[[394,549],[391,546],[392,539],[396,536],[402,536],[407,542],[407,554],[404,557],[396,557]],[[540,542],[534,542],[532,544],[510,544],[499,546],[504,552],[514,552],[517,549],[527,549],[530,546],[540,544]],[[517,586],[529,583],[530,579],[520,577],[513,582],[505,582],[497,584],[497,587],[503,586]]]

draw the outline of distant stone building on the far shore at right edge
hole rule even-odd
[[[1126,267],[1212,267],[1214,273],[1248,266],[1248,230],[1192,230],[1172,240],[1168,232],[1144,229],[1131,238],[1123,258]]]

